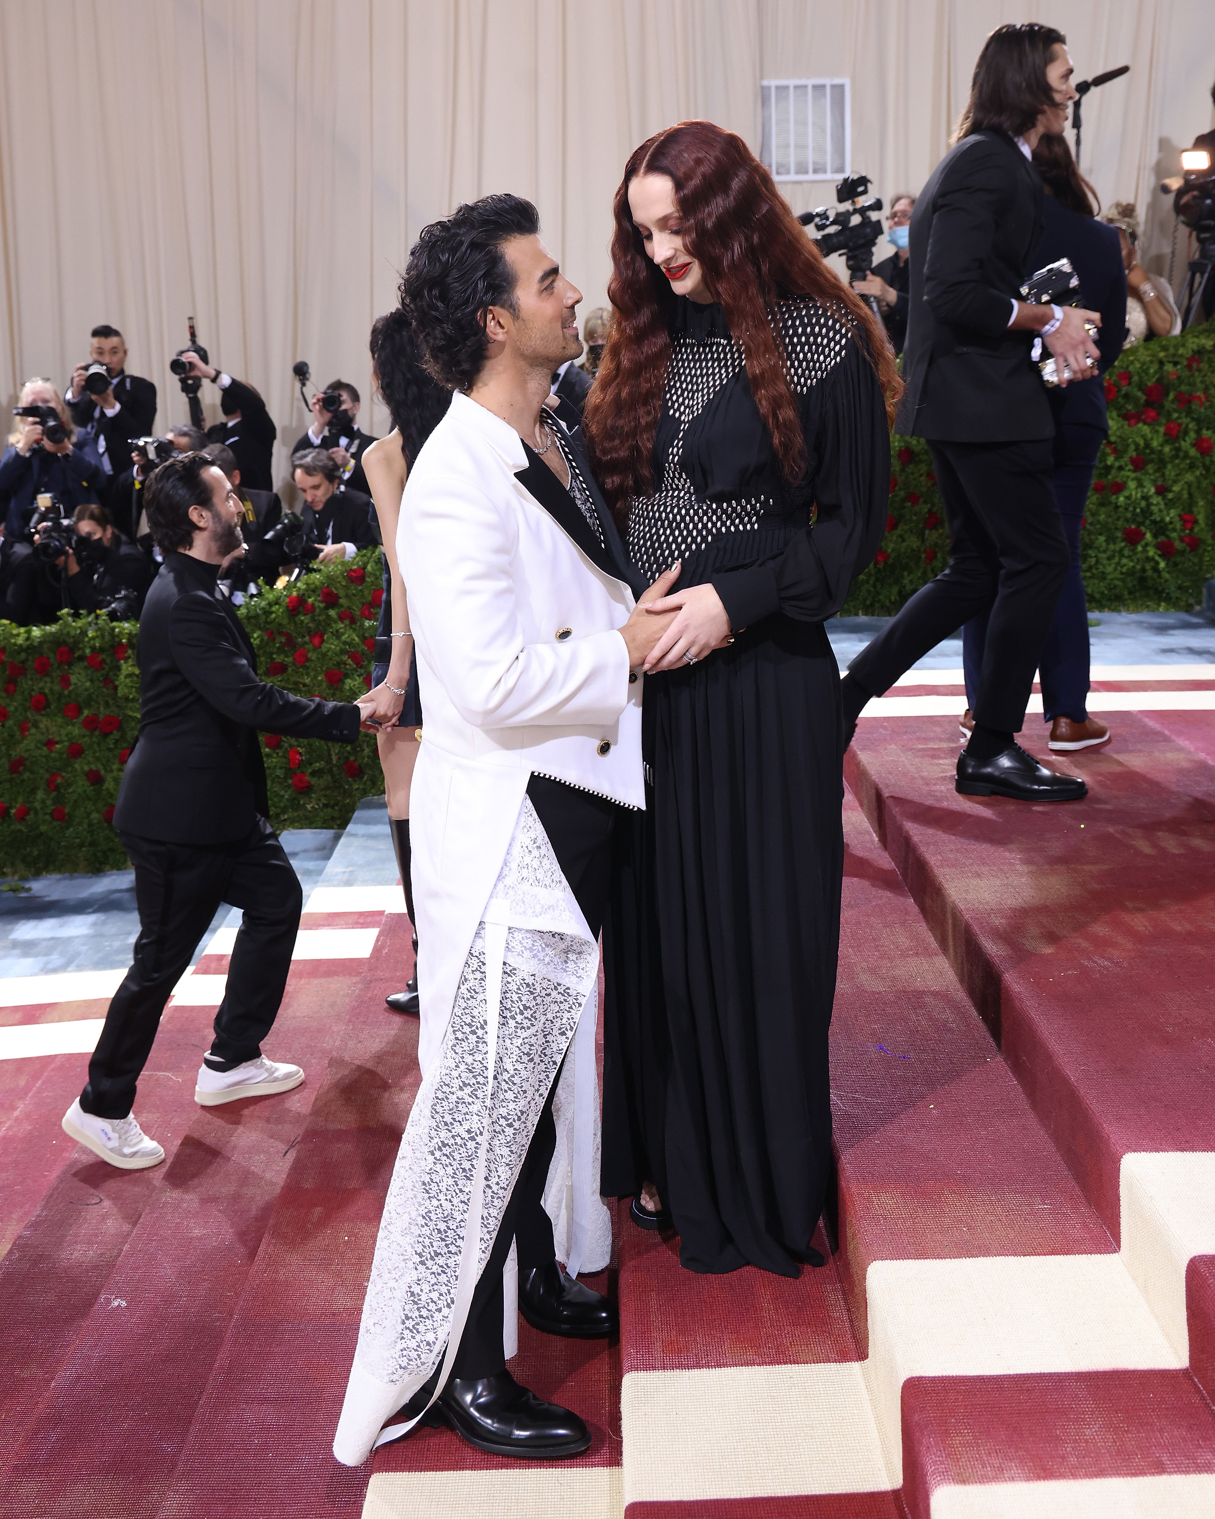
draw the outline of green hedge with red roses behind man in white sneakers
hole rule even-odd
[[[261,674],[334,702],[366,691],[380,574],[372,548],[246,602]],[[140,726],[137,632],[71,612],[46,627],[0,623],[0,875],[125,869],[111,817]],[[384,790],[369,734],[354,746],[260,737],[276,828],[343,828]]]

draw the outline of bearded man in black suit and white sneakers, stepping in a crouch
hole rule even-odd
[[[164,1159],[131,1112],[164,1004],[220,902],[245,911],[204,1056],[204,1107],[299,1086],[304,1071],[261,1054],[282,1001],[302,892],[266,820],[258,729],[354,743],[358,703],[290,696],[257,677],[254,646],[216,591],[240,547],[243,506],[204,454],[170,459],[147,486],[164,565],[140,618],[140,734],[114,825],[135,867],[140,936],[64,1130],[125,1171]]]

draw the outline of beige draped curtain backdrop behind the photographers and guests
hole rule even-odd
[[[0,393],[62,384],[111,322],[164,428],[187,415],[169,357],[193,314],[266,396],[282,478],[307,421],[296,358],[352,380],[383,430],[368,330],[459,201],[532,197],[586,310],[652,132],[709,117],[758,149],[761,79],[844,76],[854,172],[916,190],[983,38],[1024,20],[1066,32],[1080,77],[1131,65],[1086,100],[1084,169],[1147,211],[1166,273],[1156,182],[1212,122],[1209,0],[0,0]],[[784,188],[799,211],[834,201],[825,181]],[[211,386],[204,401],[217,419]]]

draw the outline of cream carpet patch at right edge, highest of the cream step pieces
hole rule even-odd
[[[1186,1264],[1215,1255],[1215,1154],[1124,1154],[1119,1195],[1122,1262],[1188,1363]]]

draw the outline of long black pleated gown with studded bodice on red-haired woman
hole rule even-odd
[[[711,580],[735,643],[645,681],[647,811],[604,927],[603,1191],[653,1180],[694,1271],[796,1276],[831,1168],[843,878],[840,674],[823,620],[885,530],[890,434],[864,337],[779,305],[808,471],[782,477],[717,305],[677,304],[655,497],[629,550]],[[811,526],[813,524],[813,526]]]

